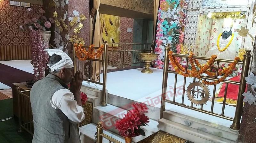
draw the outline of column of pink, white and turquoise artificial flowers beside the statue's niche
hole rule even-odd
[[[171,50],[174,53],[181,53],[184,42],[183,27],[187,23],[188,0],[161,0],[158,11],[158,22],[156,30],[155,53],[159,54],[155,61],[155,68],[164,68],[164,49],[165,44],[171,44]],[[181,61],[181,58],[177,58]],[[173,70],[171,64],[169,69]]]

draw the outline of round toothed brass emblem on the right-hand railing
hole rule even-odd
[[[192,83],[190,82],[186,91],[188,100],[190,100],[193,104],[203,105],[206,104],[206,102],[210,99],[210,91],[208,86],[199,81]]]

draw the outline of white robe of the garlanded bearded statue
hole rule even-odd
[[[232,36],[229,36],[228,39],[224,40],[222,37],[220,37],[220,49],[225,48],[228,45],[228,42],[231,40]],[[234,60],[236,57],[236,44],[235,39],[231,42],[231,44],[228,46],[228,49],[226,49],[223,52],[220,52],[218,50],[217,45],[209,49],[209,51],[206,53],[206,57],[211,57],[212,55],[217,55],[217,58],[220,59],[230,59]]]

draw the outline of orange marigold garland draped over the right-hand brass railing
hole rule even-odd
[[[206,73],[208,76],[215,76],[215,73],[208,71],[208,69],[213,66],[213,63],[214,63],[215,59],[217,58],[217,55],[212,55],[210,60],[207,61],[207,63],[202,66],[198,62],[197,59],[193,58],[194,53],[190,52],[188,60],[189,60],[189,63],[191,64],[192,70],[187,70],[187,72],[186,72],[186,69],[184,67],[182,67],[182,65],[177,60],[177,58],[175,56],[173,56],[172,54],[173,54],[173,52],[170,51],[169,58],[170,58],[172,66],[174,67],[174,70],[178,74],[180,74],[184,77],[196,77],[199,80],[202,80],[202,76],[201,76],[202,73]],[[233,69],[236,67],[236,64],[238,63],[239,60],[240,60],[240,58],[236,57],[234,62],[231,63],[225,70],[218,72],[218,75],[222,76],[218,80],[210,82],[210,81],[206,81],[205,79],[203,79],[202,82],[205,85],[214,85],[214,84],[223,82],[232,73]],[[196,66],[199,68],[199,70],[197,70]]]

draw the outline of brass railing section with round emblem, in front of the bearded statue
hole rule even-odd
[[[224,118],[230,121],[233,121],[233,124],[230,126],[231,129],[233,130],[238,130],[240,128],[240,120],[241,120],[241,115],[242,115],[242,110],[243,110],[243,96],[242,94],[245,91],[245,87],[246,87],[246,81],[245,81],[245,77],[248,75],[248,71],[249,71],[249,66],[250,66],[250,59],[251,59],[251,50],[246,50],[246,54],[244,55],[244,61],[239,61],[238,64],[242,64],[242,72],[241,72],[241,80],[240,82],[237,81],[231,81],[231,80],[224,80],[223,82],[226,83],[226,87],[225,87],[225,93],[224,93],[224,99],[223,99],[223,106],[222,106],[222,112],[221,114],[218,113],[214,113],[213,112],[213,108],[214,108],[214,98],[215,98],[215,93],[216,93],[216,85],[214,85],[213,88],[213,95],[212,95],[212,106],[211,106],[211,110],[204,110],[203,109],[203,104],[201,105],[201,108],[196,108],[193,107],[193,103],[191,102],[191,105],[185,105],[184,104],[184,99],[185,99],[185,86],[186,86],[186,77],[184,77],[184,81],[183,81],[183,93],[182,93],[182,102],[176,102],[175,101],[175,96],[176,96],[176,86],[177,86],[177,72],[171,71],[168,69],[168,65],[169,65],[169,56],[168,53],[170,51],[170,45],[167,44],[167,47],[165,48],[165,57],[164,57],[164,73],[163,73],[163,86],[162,86],[162,100],[161,100],[161,113],[160,113],[160,118],[163,118],[163,113],[165,110],[165,102],[174,104],[174,105],[178,105],[181,107],[185,107],[188,109],[192,109],[192,110],[196,110],[198,112],[202,112],[205,114],[209,114],[212,116],[216,116],[216,117],[220,117],[220,118]],[[173,54],[173,56],[177,56],[177,57],[182,57],[182,58],[186,58],[186,71],[188,70],[188,56],[189,55],[182,55],[182,54]],[[200,59],[200,60],[210,60],[209,57],[202,57],[202,56],[193,56],[195,59]],[[218,71],[219,71],[219,65],[220,62],[225,62],[225,63],[232,63],[232,60],[225,60],[225,59],[215,59],[215,61],[217,62],[217,67],[216,67],[216,74],[215,77],[207,77],[207,76],[202,76],[202,79],[207,79],[207,80],[217,80],[218,79]],[[174,79],[174,95],[173,95],[173,100],[167,100],[166,99],[166,89],[167,89],[167,79],[168,79],[168,73],[173,73],[175,74],[175,79]],[[196,78],[194,78],[194,82],[196,81]],[[239,85],[239,90],[238,90],[238,98],[237,98],[237,103],[236,103],[236,111],[235,111],[235,117],[228,117],[224,115],[224,110],[225,110],[225,105],[226,105],[226,99],[227,99],[227,89],[228,89],[228,84],[235,84],[235,85]]]

